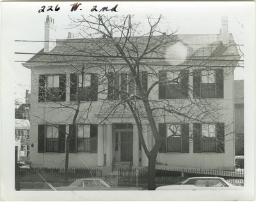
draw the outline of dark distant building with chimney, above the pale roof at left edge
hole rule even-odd
[[[18,109],[15,109],[15,118],[22,120],[30,119],[30,99],[31,94],[28,93],[28,89],[26,90],[26,103],[21,104]]]

